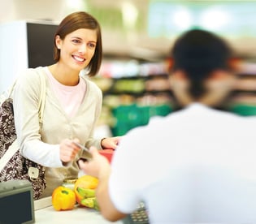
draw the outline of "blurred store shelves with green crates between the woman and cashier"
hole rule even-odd
[[[153,116],[166,116],[173,110],[172,94],[167,81],[166,64],[140,60],[102,63],[91,78],[103,93],[102,118],[113,136],[122,136],[134,127],[146,125]]]

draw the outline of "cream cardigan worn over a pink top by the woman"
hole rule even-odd
[[[45,72],[43,67],[37,69]],[[21,72],[15,85],[13,104],[20,151],[24,157],[48,167],[46,168],[48,189],[49,187],[54,189],[63,182],[63,179],[76,178],[78,174],[76,161],[67,167],[60,161],[61,140],[76,137],[87,148],[94,145],[102,149],[100,140],[93,139],[93,130],[102,110],[102,91],[92,81],[83,78],[87,88],[85,99],[76,115],[69,118],[54,96],[46,75],[46,105],[41,131],[38,120],[41,84],[37,70],[30,68]]]

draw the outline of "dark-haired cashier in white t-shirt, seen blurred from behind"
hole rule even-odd
[[[256,223],[256,119],[215,109],[236,83],[232,50],[193,29],[169,62],[182,109],[129,131],[111,165],[94,148],[80,161],[99,179],[102,215],[115,221],[144,201],[150,223]]]

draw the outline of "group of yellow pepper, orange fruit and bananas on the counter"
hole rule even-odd
[[[98,179],[90,175],[83,175],[76,180],[74,190],[59,186],[52,194],[52,205],[57,211],[74,209],[75,204],[99,210],[95,191]]]

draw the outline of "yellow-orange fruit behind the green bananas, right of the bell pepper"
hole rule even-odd
[[[98,179],[90,175],[84,175],[76,180],[74,192],[76,194],[76,202],[81,205],[81,200],[84,199],[84,197],[77,191],[77,187],[96,189],[98,187]]]

